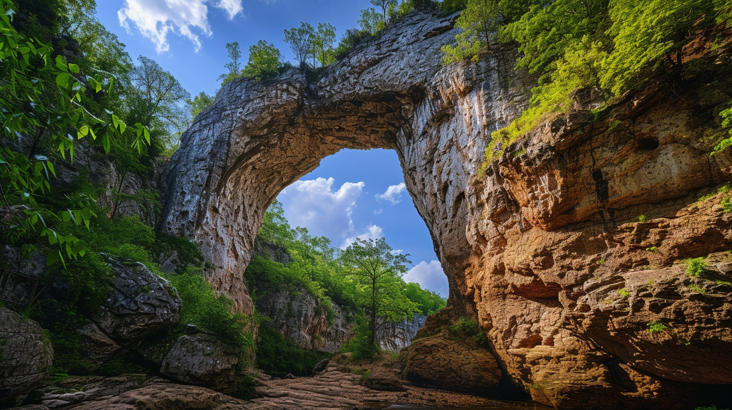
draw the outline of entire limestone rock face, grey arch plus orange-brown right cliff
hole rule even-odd
[[[477,319],[502,377],[562,409],[683,408],[684,394],[732,384],[728,265],[693,278],[681,264],[732,248],[727,194],[697,201],[732,176],[732,158],[708,154],[732,95],[728,48],[688,51],[703,72],[598,119],[579,92],[572,114],[478,172],[532,84],[510,48],[442,66],[453,23],[410,15],[317,81],[229,83],[165,171],[162,228],[194,237],[220,266],[209,280],[250,312],[242,275],[280,190],[340,149],[395,149],[449,279],[428,329]]]

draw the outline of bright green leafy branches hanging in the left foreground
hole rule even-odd
[[[86,253],[86,242],[64,233],[64,224],[85,225],[94,217],[88,195],[73,198],[78,209],[54,212],[39,204],[38,198],[51,191],[51,178],[56,178],[53,162],[37,153],[43,143],[65,158],[73,160],[75,139],[91,137],[109,153],[113,141],[127,128],[118,116],[105,111],[100,119],[84,105],[86,92],[113,92],[114,78],[83,75],[78,64],[57,56],[51,64],[51,48],[35,39],[21,36],[12,26],[13,3],[0,0],[0,122],[8,141],[31,140],[28,155],[9,147],[0,151],[0,194],[7,217],[5,236],[12,244],[20,244],[23,253],[39,250],[48,254],[47,263],[77,258]],[[89,87],[89,89],[87,88]],[[73,136],[72,133],[76,135]],[[132,145],[141,149],[149,144],[149,131],[137,124]],[[72,198],[69,198],[72,199]],[[46,240],[41,238],[45,237]],[[46,243],[47,242],[47,243]]]

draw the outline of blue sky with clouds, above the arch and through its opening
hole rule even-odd
[[[174,6],[171,6],[174,4]],[[331,23],[337,37],[357,26],[368,0],[97,0],[97,18],[119,36],[130,55],[154,59],[191,94],[214,94],[228,62],[227,42],[239,42],[242,66],[258,40],[294,57],[283,31],[306,21]],[[343,150],[278,197],[292,225],[346,246],[355,237],[385,236],[411,254],[407,281],[447,297],[429,231],[406,189],[397,154],[384,149]]]

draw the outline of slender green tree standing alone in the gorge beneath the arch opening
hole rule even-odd
[[[394,253],[386,239],[356,239],[343,250],[340,264],[354,285],[356,303],[367,315],[367,350],[376,352],[376,331],[386,322],[403,321],[419,312],[404,292],[402,275],[411,264],[408,255]],[[356,335],[358,337],[359,335]]]

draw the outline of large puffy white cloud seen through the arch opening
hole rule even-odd
[[[285,217],[293,226],[306,226],[314,236],[340,240],[353,234],[351,213],[363,182],[346,182],[334,190],[335,179],[296,181],[280,193]]]

